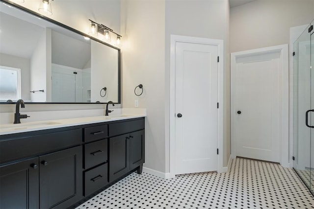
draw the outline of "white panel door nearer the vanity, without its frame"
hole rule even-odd
[[[176,43],[176,174],[217,170],[217,51]]]

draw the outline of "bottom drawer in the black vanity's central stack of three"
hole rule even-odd
[[[84,173],[85,190],[84,195],[97,191],[108,184],[108,163],[95,167]]]

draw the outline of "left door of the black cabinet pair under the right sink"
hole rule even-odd
[[[129,134],[109,139],[109,182],[130,171]]]

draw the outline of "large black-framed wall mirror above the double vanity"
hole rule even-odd
[[[0,2],[1,103],[120,103],[119,48]]]

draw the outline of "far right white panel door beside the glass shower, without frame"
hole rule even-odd
[[[237,58],[234,73],[236,156],[280,162],[280,53]]]

